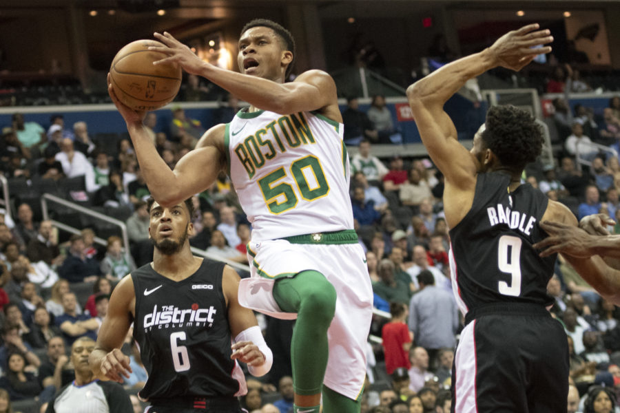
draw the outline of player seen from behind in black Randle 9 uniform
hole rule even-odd
[[[545,308],[555,255],[539,257],[533,244],[545,236],[541,220],[573,226],[577,220],[564,205],[520,183],[525,165],[541,151],[541,131],[521,109],[492,107],[468,152],[443,109],[468,79],[498,66],[520,70],[550,52],[544,45],[552,37],[538,28],[508,32],[407,89],[422,141],[445,176],[453,291],[465,314],[453,412],[566,412],[566,334]],[[608,284],[595,262],[569,261],[595,288]]]

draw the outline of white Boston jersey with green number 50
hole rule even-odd
[[[238,112],[226,125],[229,175],[252,240],[353,229],[342,124],[314,112]]]

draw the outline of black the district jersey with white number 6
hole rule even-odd
[[[245,389],[243,373],[230,359],[223,269],[223,263],[205,259],[180,282],[150,264],[132,272],[134,338],[149,375],[140,390],[144,399],[234,396]]]

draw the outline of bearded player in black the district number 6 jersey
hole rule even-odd
[[[103,380],[129,377],[130,359],[120,348],[133,322],[148,373],[139,395],[151,403],[149,412],[242,412],[236,396],[247,388],[237,361],[261,376],[273,357],[254,313],[238,302],[239,277],[223,263],[192,255],[191,199],[163,207],[151,198],[148,210],[153,262],[114,288],[91,368]]]

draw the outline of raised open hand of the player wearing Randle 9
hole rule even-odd
[[[551,46],[544,46],[553,41],[550,31],[538,28],[538,23],[528,24],[497,39],[488,49],[496,65],[519,71],[537,55],[551,52]]]

